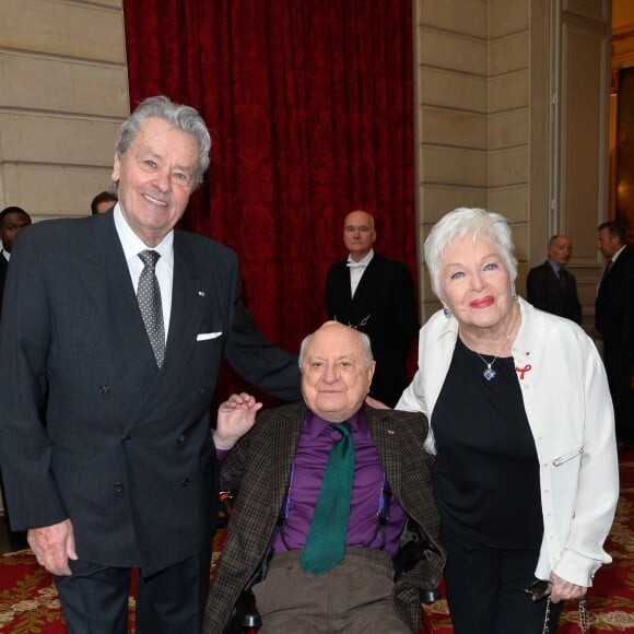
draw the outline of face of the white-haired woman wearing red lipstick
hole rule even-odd
[[[463,330],[505,327],[512,316],[513,295],[508,272],[495,245],[473,235],[443,251],[442,300]]]

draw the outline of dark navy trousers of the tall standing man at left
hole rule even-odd
[[[132,568],[69,561],[55,585],[71,634],[127,634]],[[211,548],[137,582],[137,634],[202,632]]]

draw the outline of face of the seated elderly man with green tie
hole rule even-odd
[[[369,391],[374,365],[366,361],[356,330],[325,324],[309,340],[302,363],[306,404],[326,421],[347,421]]]

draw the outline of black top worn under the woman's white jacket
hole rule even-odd
[[[543,520],[535,441],[513,357],[492,367],[496,376],[489,381],[485,363],[458,338],[432,416],[443,536],[488,548],[538,549]]]

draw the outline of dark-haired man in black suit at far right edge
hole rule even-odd
[[[603,338],[603,363],[614,406],[617,439],[634,443],[634,249],[618,221],[599,225],[597,248],[607,265],[595,305],[595,327]]]

